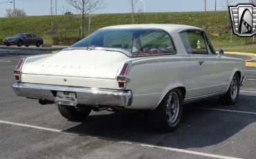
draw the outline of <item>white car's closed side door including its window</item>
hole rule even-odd
[[[226,69],[223,68],[205,32],[188,32],[192,55],[199,59],[199,95],[222,93],[226,85]]]

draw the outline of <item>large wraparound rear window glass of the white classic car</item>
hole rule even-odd
[[[118,48],[134,56],[176,53],[167,32],[158,29],[98,30],[71,47]]]

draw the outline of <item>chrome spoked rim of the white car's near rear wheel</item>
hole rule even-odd
[[[166,103],[166,119],[170,124],[176,122],[179,115],[180,101],[179,94],[171,92]]]

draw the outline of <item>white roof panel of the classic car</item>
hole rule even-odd
[[[120,26],[107,26],[102,29],[122,29],[122,28],[156,28],[165,30],[170,33],[182,32],[183,30],[202,30],[195,26],[187,26],[180,24],[130,24]]]

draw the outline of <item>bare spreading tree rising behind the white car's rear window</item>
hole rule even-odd
[[[84,18],[94,12],[104,8],[103,0],[66,0],[73,8],[81,14],[80,32],[84,37]]]

